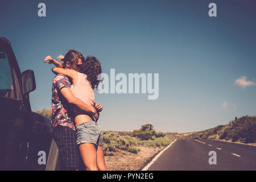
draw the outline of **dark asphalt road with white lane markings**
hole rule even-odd
[[[209,164],[210,151],[216,163]],[[256,170],[256,146],[216,140],[176,140],[147,169],[173,170]]]

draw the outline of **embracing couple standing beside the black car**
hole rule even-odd
[[[53,138],[59,148],[64,170],[106,171],[103,135],[97,121],[102,106],[94,102],[94,88],[101,79],[100,61],[69,50],[61,63],[47,56],[44,63],[54,64],[52,82]],[[79,154],[80,153],[80,154]]]

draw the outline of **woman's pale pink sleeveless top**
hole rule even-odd
[[[77,83],[76,85],[71,85],[71,90],[77,98],[80,98],[85,104],[88,104],[89,106],[93,106],[94,101],[94,90],[92,89],[92,85],[90,82],[86,79],[86,75],[83,73],[78,73],[77,77]]]

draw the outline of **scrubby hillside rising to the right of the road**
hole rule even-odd
[[[183,134],[184,139],[224,139],[232,142],[256,142],[256,115],[234,118],[228,125],[219,125],[213,129]]]

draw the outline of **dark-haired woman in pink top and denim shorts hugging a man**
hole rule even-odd
[[[71,55],[71,57],[73,57]],[[47,57],[46,57],[47,59]],[[45,60],[46,61],[46,60]],[[95,115],[102,111],[100,104],[95,105],[94,88],[97,88],[101,81],[100,61],[94,56],[88,56],[85,60],[80,60],[75,65],[69,64],[72,59],[66,54],[61,57],[63,67],[57,61],[51,61],[57,68],[53,68],[52,72],[63,74],[72,80],[71,90],[73,94],[84,101],[86,104],[96,108],[96,113],[90,115],[73,107],[74,121],[76,125],[77,145],[79,145],[80,154],[85,164],[86,170],[101,170],[106,171],[104,152],[102,150],[103,134],[100,126],[97,123]],[[79,66],[77,66],[79,65]]]

